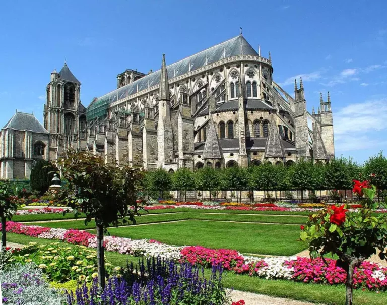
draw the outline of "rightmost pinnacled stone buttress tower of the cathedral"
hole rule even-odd
[[[333,142],[333,117],[331,110],[331,96],[329,95],[329,92],[327,102],[324,102],[321,98],[320,106],[321,138],[327,150],[328,158],[331,159],[335,156],[335,145]]]

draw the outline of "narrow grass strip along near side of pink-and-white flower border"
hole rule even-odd
[[[57,240],[41,239],[14,233],[7,234],[7,240],[10,242],[27,245],[28,242],[36,242],[39,245],[58,242]],[[77,247],[70,243],[61,242],[66,247]],[[126,260],[129,262],[140,261],[141,258],[129,255],[123,255],[113,252],[105,252],[105,257],[116,266],[125,266]],[[210,270],[205,270],[205,275],[210,276]],[[225,272],[223,281],[226,287],[241,291],[261,293],[276,297],[285,297],[290,299],[309,301],[314,303],[324,303],[328,305],[344,305],[345,287],[328,286],[321,284],[304,284],[286,280],[265,280],[258,277],[249,277],[247,275],[237,275]],[[354,290],[354,303],[357,305],[380,305],[387,303],[387,293],[375,293],[372,291]]]

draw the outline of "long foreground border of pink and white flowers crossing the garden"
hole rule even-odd
[[[214,207],[212,207],[214,208]],[[235,207],[229,207],[235,208]],[[256,209],[256,208],[255,208]],[[7,232],[25,234],[38,238],[58,239],[89,248],[96,248],[95,235],[78,230],[65,230],[27,226],[12,221],[7,222]],[[107,236],[107,251],[130,254],[134,256],[158,257],[202,266],[221,264],[225,270],[259,276],[266,279],[288,279],[305,283],[343,284],[346,273],[336,267],[336,261],[300,257],[255,258],[243,256],[235,250],[208,249],[200,246],[177,247],[155,240]],[[356,288],[387,290],[387,267],[375,263],[363,262],[355,271]]]

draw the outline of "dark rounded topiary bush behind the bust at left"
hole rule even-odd
[[[43,195],[45,192],[47,192],[55,170],[56,167],[53,164],[45,160],[37,161],[31,170],[31,189],[38,191],[40,195]]]

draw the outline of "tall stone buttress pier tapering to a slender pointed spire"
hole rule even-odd
[[[157,167],[164,167],[165,163],[173,162],[173,133],[170,115],[170,97],[167,65],[165,54],[160,71],[159,88],[159,121],[157,125]]]

